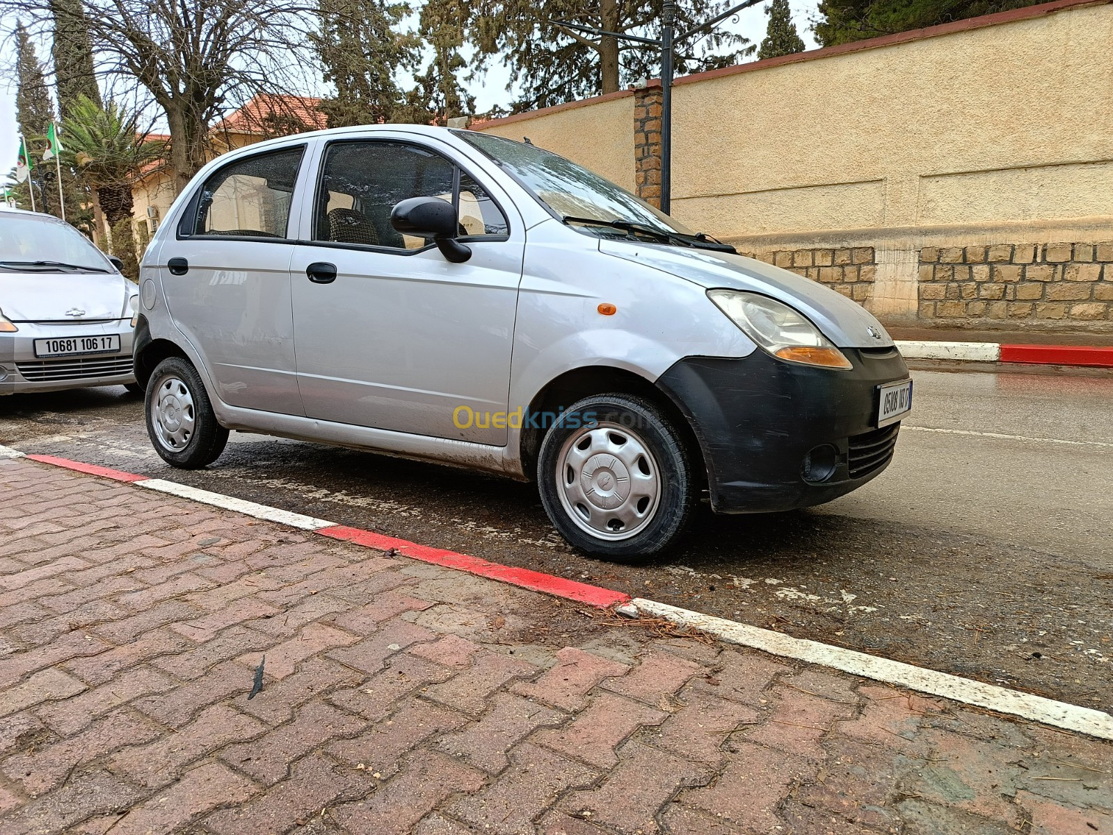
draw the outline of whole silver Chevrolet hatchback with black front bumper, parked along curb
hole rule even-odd
[[[668,548],[705,497],[861,487],[912,400],[843,295],[541,148],[424,126],[209,163],[144,256],[135,351],[170,464],[240,430],[535,479],[610,559]]]

